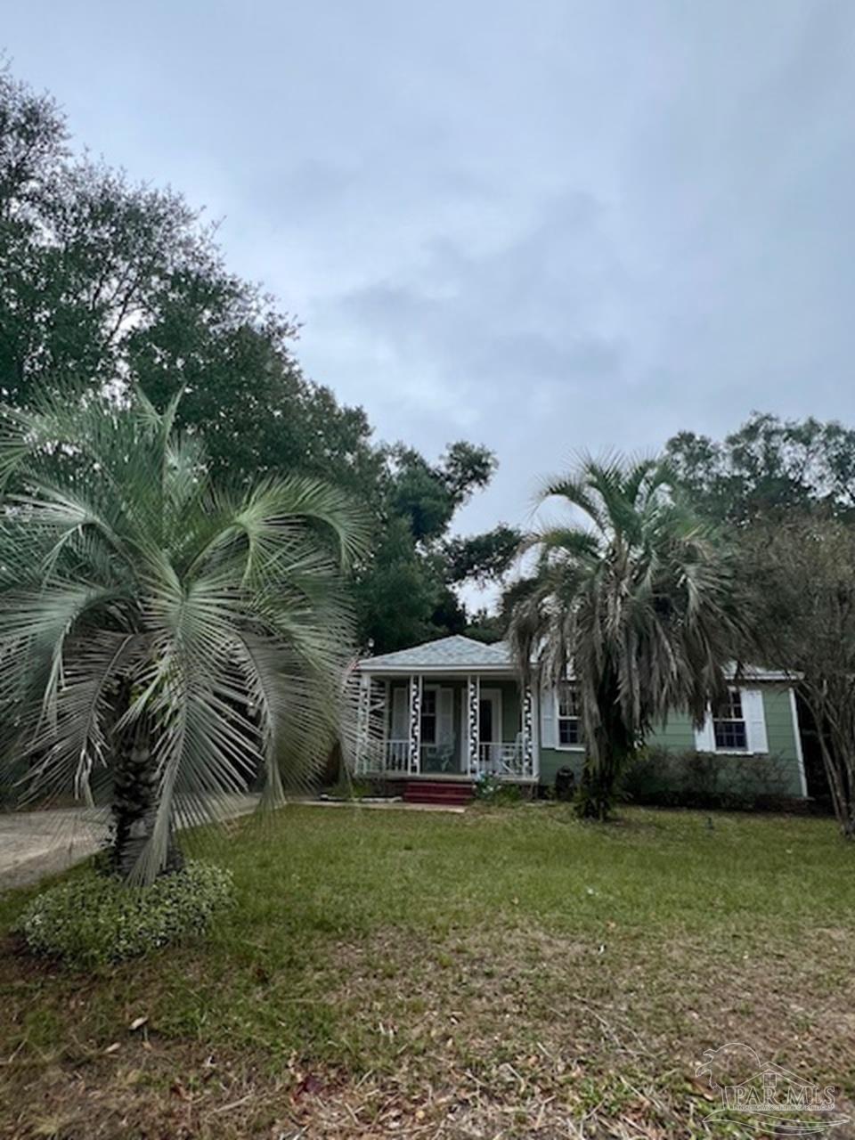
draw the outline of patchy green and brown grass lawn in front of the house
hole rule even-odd
[[[855,1101],[830,822],[294,806],[234,830],[205,944],[80,975],[7,939],[0,1135],[723,1135],[694,1069],[733,1041]]]

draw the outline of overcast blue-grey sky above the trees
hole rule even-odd
[[[855,422],[855,0],[0,2],[87,144],[221,218],[380,438],[573,450]]]

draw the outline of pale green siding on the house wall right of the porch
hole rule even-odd
[[[785,796],[804,795],[798,762],[797,728],[792,717],[790,690],[787,685],[764,684],[758,686],[763,692],[763,707],[766,717],[766,736],[768,755],[775,760],[774,787],[768,791]],[[651,747],[667,748],[675,752],[690,752],[694,749],[694,728],[691,717],[685,712],[674,712],[665,725],[653,732],[649,741]],[[750,756],[719,755],[722,763],[722,783],[735,790],[744,783],[746,766],[751,765]],[[581,774],[584,754],[573,749],[540,749],[540,783],[553,784],[559,768],[570,767],[576,777]],[[764,765],[767,762],[763,762]],[[760,767],[760,762],[756,765]],[[767,771],[764,768],[764,771]]]

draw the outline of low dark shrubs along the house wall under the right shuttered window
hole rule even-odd
[[[731,811],[791,801],[785,764],[779,756],[720,756],[666,748],[641,749],[621,777],[620,793],[634,804]]]

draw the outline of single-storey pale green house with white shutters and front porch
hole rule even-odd
[[[484,775],[520,785],[549,785],[559,768],[581,772],[585,747],[572,681],[523,687],[504,642],[442,637],[358,662],[356,772],[430,798],[442,782]],[[807,785],[792,686],[783,673],[743,670],[724,707],[697,730],[675,710],[646,742],[675,752],[720,756],[738,773],[774,756],[775,791],[805,797]],[[424,795],[417,791],[423,782]]]

